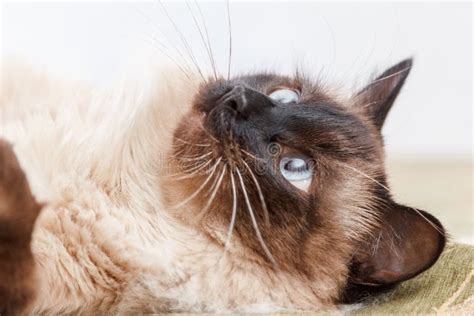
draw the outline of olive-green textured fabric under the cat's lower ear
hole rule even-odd
[[[351,314],[474,315],[474,246],[447,246],[431,269]]]

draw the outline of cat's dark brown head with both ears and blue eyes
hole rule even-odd
[[[427,269],[443,228],[393,201],[381,136],[411,64],[347,100],[299,75],[203,84],[174,133],[170,209],[229,256],[309,278],[385,285]]]

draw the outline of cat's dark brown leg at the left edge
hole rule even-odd
[[[41,205],[12,146],[0,139],[0,315],[28,313],[37,281],[30,248]]]

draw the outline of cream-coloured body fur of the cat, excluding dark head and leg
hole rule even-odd
[[[95,91],[3,65],[0,137],[14,144],[34,195],[47,203],[33,236],[41,280],[33,312],[321,307],[303,277],[226,254],[161,205],[171,134],[198,81],[170,69],[155,74]],[[318,293],[329,278],[314,285]]]

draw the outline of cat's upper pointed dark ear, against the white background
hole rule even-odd
[[[382,129],[412,64],[412,59],[406,59],[387,69],[353,97],[355,105],[365,111],[379,130]]]

